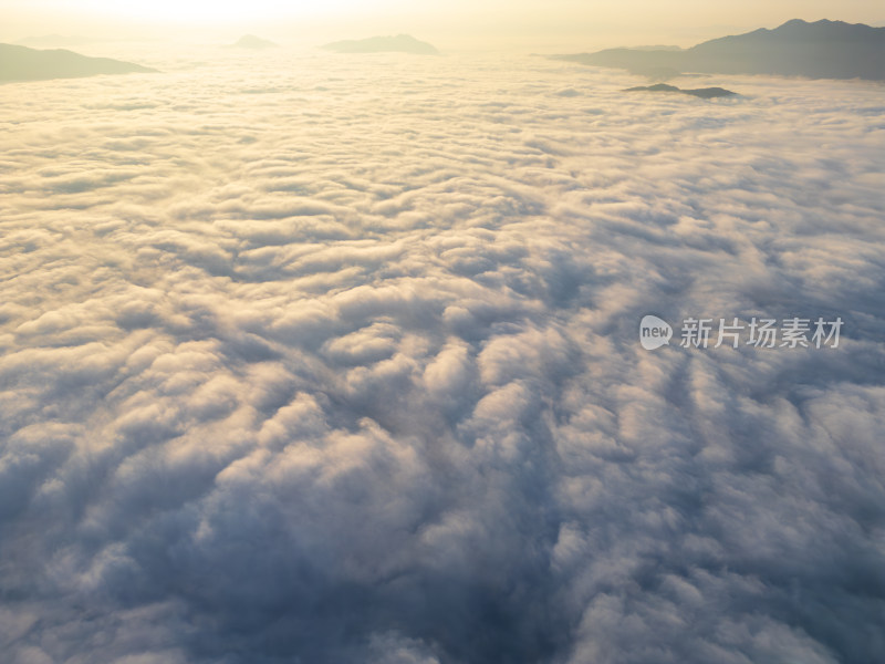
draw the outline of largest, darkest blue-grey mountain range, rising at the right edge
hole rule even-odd
[[[678,51],[607,49],[556,60],[625,69],[653,77],[681,72],[885,80],[885,28],[799,19]]]

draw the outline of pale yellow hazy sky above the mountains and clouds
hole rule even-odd
[[[293,39],[322,27],[361,35],[365,32],[421,32],[457,42],[510,40],[524,42],[586,35],[624,35],[670,42],[721,34],[731,28],[775,27],[791,18],[841,19],[875,23],[885,20],[881,0],[748,0],[740,4],[701,0],[6,0],[0,38],[76,30],[94,35],[107,30],[126,35],[166,31],[237,33],[263,30]],[[629,39],[627,39],[629,41]]]

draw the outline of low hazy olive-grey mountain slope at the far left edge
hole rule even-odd
[[[149,73],[156,70],[110,58],[87,58],[61,49],[38,51],[28,46],[0,44],[0,81],[77,79],[136,72]]]

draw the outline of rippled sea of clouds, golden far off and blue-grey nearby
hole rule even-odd
[[[0,86],[3,662],[883,661],[881,85],[145,64]]]

